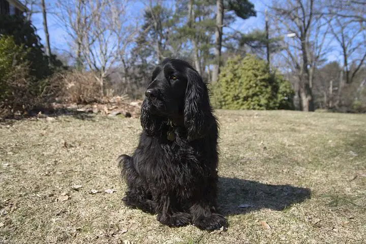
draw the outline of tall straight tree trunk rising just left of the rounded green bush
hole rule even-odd
[[[215,31],[215,65],[212,69],[212,81],[216,82],[219,79],[220,64],[221,64],[221,44],[222,44],[222,31],[223,31],[223,18],[224,18],[224,1],[216,1],[216,31]]]

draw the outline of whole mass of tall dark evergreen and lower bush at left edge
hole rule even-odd
[[[0,15],[0,117],[47,106],[59,93],[49,77],[63,68],[54,55],[45,55],[30,21]]]

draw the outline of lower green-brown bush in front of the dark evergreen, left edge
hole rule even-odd
[[[17,45],[13,37],[0,36],[0,117],[24,114],[45,107],[64,90],[49,78],[32,75],[26,59],[29,48]]]

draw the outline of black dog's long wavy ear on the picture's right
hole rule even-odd
[[[184,120],[188,130],[188,140],[202,138],[209,131],[215,117],[208,98],[208,89],[197,71],[187,69]]]

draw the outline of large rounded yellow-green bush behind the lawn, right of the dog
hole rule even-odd
[[[293,109],[291,84],[281,75],[271,74],[266,62],[254,55],[229,59],[210,88],[216,108]]]

